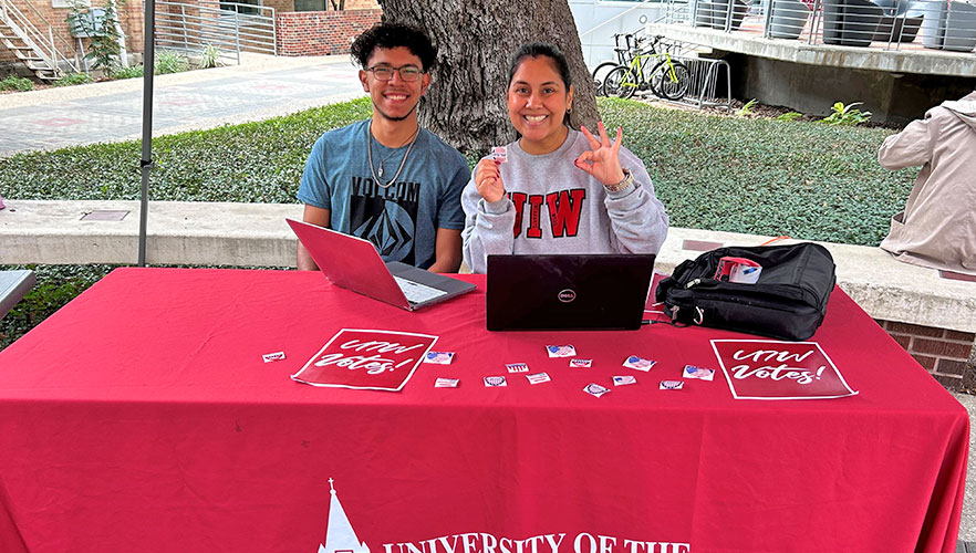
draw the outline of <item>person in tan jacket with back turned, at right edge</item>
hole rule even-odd
[[[976,275],[976,92],[889,136],[878,161],[922,166],[881,248],[906,263]]]

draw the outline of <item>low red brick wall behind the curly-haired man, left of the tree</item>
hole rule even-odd
[[[352,40],[380,21],[382,13],[381,10],[278,13],[278,54],[347,53]]]

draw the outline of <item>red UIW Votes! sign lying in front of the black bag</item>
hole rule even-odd
[[[713,340],[736,399],[828,399],[854,396],[817,342]]]

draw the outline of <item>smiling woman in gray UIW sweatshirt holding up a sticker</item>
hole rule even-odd
[[[570,128],[573,86],[557,46],[519,49],[506,101],[520,137],[481,159],[461,196],[471,271],[492,253],[657,253],[668,220],[651,177],[620,128],[613,140],[602,122],[599,136]]]

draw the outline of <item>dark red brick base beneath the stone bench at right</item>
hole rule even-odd
[[[878,324],[943,386],[976,390],[976,334],[893,321]]]

